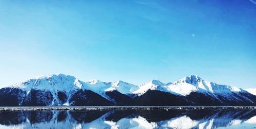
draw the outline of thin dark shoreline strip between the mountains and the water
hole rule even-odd
[[[2,111],[93,110],[256,110],[256,106],[1,106]]]

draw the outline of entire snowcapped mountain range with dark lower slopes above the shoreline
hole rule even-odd
[[[0,106],[256,105],[253,90],[195,75],[174,83],[152,80],[134,85],[124,81],[84,82],[70,75],[52,74],[0,89]]]

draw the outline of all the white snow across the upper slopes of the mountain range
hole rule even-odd
[[[158,90],[181,96],[189,95],[191,92],[223,95],[231,95],[233,92],[244,92],[243,89],[237,87],[203,80],[197,75],[181,78],[174,83],[163,83],[159,80],[152,80],[141,85],[134,85],[121,80],[115,82],[102,82],[94,79],[83,82],[70,75],[51,74],[39,76],[25,82],[16,83],[10,87],[22,89],[27,93],[32,89],[50,91],[55,100],[58,100],[58,91],[66,92],[68,98],[70,98],[70,96],[79,89],[91,90],[106,99],[109,98],[105,93],[109,91],[118,91],[121,94],[136,94],[138,96],[144,94],[148,90]],[[247,91],[254,95],[256,94],[256,89],[247,89]]]

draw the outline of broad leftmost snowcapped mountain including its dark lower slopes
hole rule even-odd
[[[52,74],[0,90],[0,105],[114,105],[99,89],[102,82],[83,82],[70,75]]]

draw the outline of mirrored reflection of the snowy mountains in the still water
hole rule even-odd
[[[97,110],[0,112],[0,128],[218,128],[256,126],[248,110]]]

